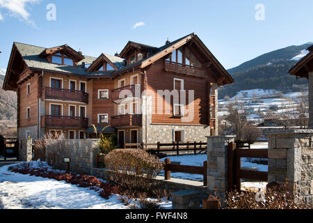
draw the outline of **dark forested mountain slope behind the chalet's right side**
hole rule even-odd
[[[235,82],[220,88],[218,98],[222,99],[225,96],[232,98],[238,91],[250,89],[300,91],[305,87],[303,85],[307,84],[307,79],[296,79],[295,76],[289,75],[288,71],[307,54],[305,49],[312,44],[306,43],[268,52],[227,70]]]

